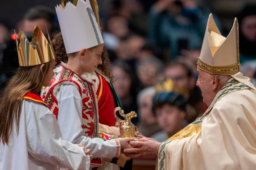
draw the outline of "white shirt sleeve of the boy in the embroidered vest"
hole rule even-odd
[[[82,136],[82,98],[74,85],[62,84],[59,88],[56,100],[58,101],[58,123],[63,140],[85,145],[91,149],[93,157],[112,158],[117,152],[115,141],[104,141],[100,138],[91,139]]]

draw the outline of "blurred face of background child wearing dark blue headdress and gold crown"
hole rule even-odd
[[[165,104],[155,110],[157,121],[161,128],[168,133],[174,135],[184,126],[185,112],[175,105]]]

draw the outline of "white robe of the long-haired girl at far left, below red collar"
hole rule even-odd
[[[85,148],[62,140],[55,116],[43,104],[24,99],[8,145],[0,143],[0,170],[90,169]]]

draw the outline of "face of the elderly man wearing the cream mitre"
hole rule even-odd
[[[197,68],[198,79],[197,79],[197,87],[202,91],[203,102],[208,106],[211,104],[215,97],[215,93],[213,90],[213,75],[202,71]]]

